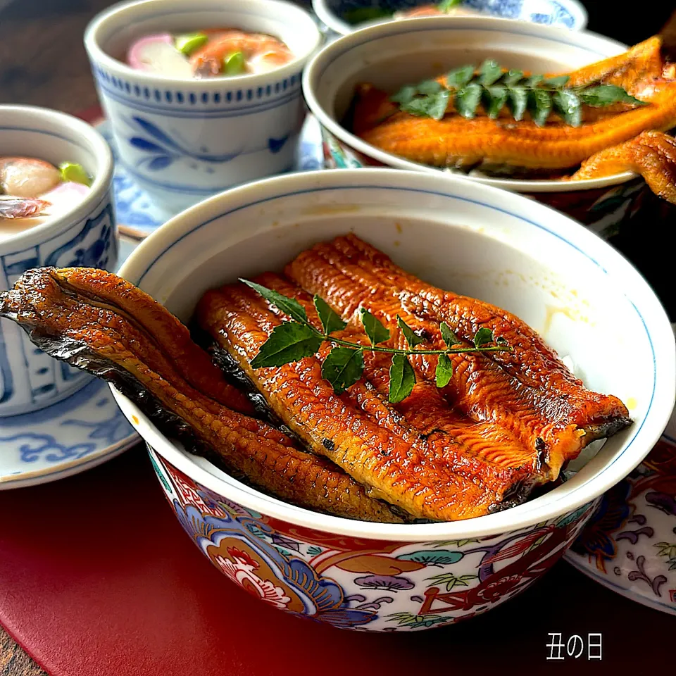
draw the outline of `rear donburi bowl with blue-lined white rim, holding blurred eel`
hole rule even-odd
[[[438,168],[382,151],[344,127],[356,84],[372,82],[395,92],[402,84],[436,77],[466,63],[479,64],[485,58],[494,58],[505,68],[565,73],[626,49],[594,33],[499,18],[392,21],[363,28],[323,47],[303,74],[303,95],[322,126],[327,167],[387,166],[439,173]],[[630,172],[575,182],[474,175],[468,180],[530,195],[603,237],[626,227],[639,205],[658,202],[644,181]]]

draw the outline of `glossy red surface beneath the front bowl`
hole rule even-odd
[[[140,446],[82,475],[0,492],[0,514],[0,622],[55,676],[673,668],[676,618],[564,562],[480,618],[420,633],[341,631],[268,608],[190,542]],[[602,661],[547,661],[549,632],[601,632]]]

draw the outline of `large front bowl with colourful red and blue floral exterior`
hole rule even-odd
[[[213,565],[265,603],[336,627],[421,630],[494,608],[563,555],[599,496],[658,439],[675,396],[673,334],[648,284],[599,237],[524,197],[397,170],[301,173],[204,201],[121,270],[184,322],[204,292],[281,269],[353,231],[428,282],[519,315],[631,427],[563,485],[472,520],[384,525],[315,513],[234,480],[165,437],[124,396],[162,490]]]

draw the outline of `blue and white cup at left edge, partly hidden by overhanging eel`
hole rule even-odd
[[[75,162],[94,178],[67,213],[0,237],[0,291],[30,268],[82,265],[115,270],[118,240],[111,199],[113,156],[103,137],[70,115],[0,106],[0,156]],[[70,396],[92,378],[36,349],[18,325],[0,320],[0,417],[30,413]]]

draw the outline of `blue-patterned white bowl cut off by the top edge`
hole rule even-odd
[[[320,20],[337,35],[348,35],[365,25],[391,20],[381,18],[356,23],[350,15],[371,8],[394,13],[422,5],[431,0],[312,0]],[[458,8],[468,13],[539,23],[568,30],[582,30],[587,25],[587,10],[577,0],[463,0]]]

